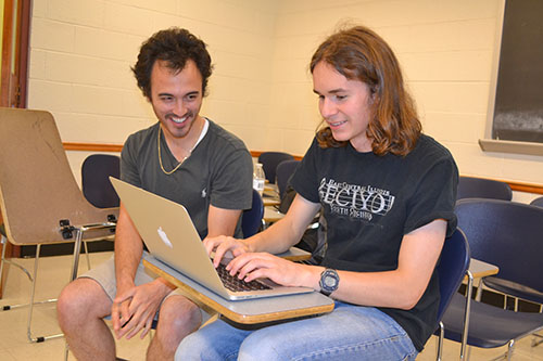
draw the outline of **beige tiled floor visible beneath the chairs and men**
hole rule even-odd
[[[111,253],[94,253],[90,255],[91,265],[98,265],[109,258]],[[17,260],[28,270],[33,270],[34,259]],[[45,257],[40,260],[38,286],[36,299],[54,298],[60,293],[63,285],[67,283],[70,276],[72,259],[70,256]],[[79,272],[87,269],[85,257],[80,259]],[[29,296],[30,283],[26,275],[18,269],[11,267],[8,282],[4,289],[4,298],[0,300],[0,306],[15,305],[26,301]],[[0,311],[0,360],[63,360],[64,338],[48,339],[43,343],[29,343],[26,336],[27,330],[27,308],[17,308],[9,311]],[[56,324],[54,305],[39,305],[35,307],[33,317],[33,337],[60,333]],[[425,350],[417,360],[435,360],[435,337],[432,336]],[[530,346],[532,337],[521,340],[513,360],[542,360],[543,345],[532,348]],[[122,340],[117,344],[117,356],[126,360],[144,360],[146,349],[149,345],[149,337],[139,339],[136,337],[129,341]],[[504,348],[485,350],[471,349],[471,360],[491,360],[501,354]],[[444,360],[456,360],[459,354],[459,346],[456,343],[445,340]],[[74,360],[70,354],[70,360]]]

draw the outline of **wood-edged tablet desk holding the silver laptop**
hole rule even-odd
[[[143,258],[143,265],[179,287],[188,298],[204,310],[212,309],[228,320],[245,326],[318,315],[333,310],[333,300],[318,292],[230,301],[160,262],[151,255]]]

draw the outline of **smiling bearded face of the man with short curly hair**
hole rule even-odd
[[[166,140],[181,141],[198,131],[203,119],[202,76],[193,61],[180,72],[157,60],[151,72],[151,104]],[[195,131],[192,131],[195,129]]]

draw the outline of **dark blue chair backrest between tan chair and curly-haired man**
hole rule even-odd
[[[83,194],[94,207],[118,207],[117,192],[109,177],[121,178],[121,158],[112,154],[91,154],[81,166]]]

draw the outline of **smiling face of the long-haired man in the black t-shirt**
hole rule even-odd
[[[369,87],[345,78],[321,61],[313,69],[313,91],[318,95],[320,115],[333,138],[351,142],[358,152],[371,152],[371,140],[366,133],[372,103]]]

